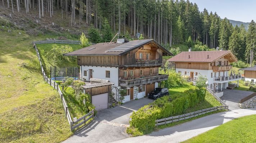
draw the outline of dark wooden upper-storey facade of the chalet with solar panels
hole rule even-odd
[[[142,57],[140,57],[140,54]],[[129,51],[124,55],[83,55],[77,56],[78,65],[142,67],[161,66],[163,51],[152,44]]]

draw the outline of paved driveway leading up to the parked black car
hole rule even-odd
[[[86,128],[72,135],[63,143],[108,143],[129,137],[126,128],[130,115],[153,100],[141,98],[97,113],[95,120]]]

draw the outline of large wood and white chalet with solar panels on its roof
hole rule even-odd
[[[116,43],[98,43],[64,55],[77,56],[81,80],[109,80],[114,83],[112,87],[127,89],[123,102],[128,102],[144,97],[168,79],[158,69],[162,56],[172,54],[152,39],[118,39]]]

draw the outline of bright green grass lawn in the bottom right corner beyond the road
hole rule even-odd
[[[231,120],[184,143],[255,143],[256,115]]]

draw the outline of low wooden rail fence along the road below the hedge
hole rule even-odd
[[[156,122],[155,126],[157,127],[158,125],[165,125],[165,124],[169,124],[169,123],[173,123],[173,122],[179,122],[180,120],[185,120],[185,119],[197,117],[199,115],[203,115],[206,113],[214,112],[217,110],[224,110],[224,109],[228,109],[228,106],[216,106],[216,107],[202,109],[202,110],[198,110],[196,112],[191,112],[191,113],[187,113],[187,114],[183,114],[183,115],[158,119],[155,121]]]

